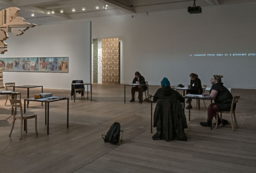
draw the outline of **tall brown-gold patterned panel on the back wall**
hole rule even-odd
[[[119,39],[102,39],[102,83],[119,84]]]

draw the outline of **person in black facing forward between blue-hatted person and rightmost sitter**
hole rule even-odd
[[[198,75],[195,73],[189,74],[190,77],[190,85],[187,86],[187,88],[190,88],[191,90],[187,90],[187,94],[202,94],[203,88],[201,84],[201,80],[198,78]],[[191,102],[191,99],[187,99],[186,103]],[[186,109],[192,109],[192,105],[188,104]]]

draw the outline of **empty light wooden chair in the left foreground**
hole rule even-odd
[[[31,119],[31,118],[35,118],[35,133],[36,133],[36,136],[38,136],[37,134],[37,116],[36,115],[33,115],[33,116],[24,116],[23,115],[23,111],[22,111],[22,103],[21,103],[21,100],[12,100],[12,99],[9,99],[10,100],[10,103],[12,105],[12,109],[13,109],[13,126],[12,126],[12,130],[10,132],[10,135],[9,137],[11,137],[11,134],[13,132],[13,128],[14,128],[14,124],[15,124],[15,120],[16,119],[20,119],[21,120],[21,136],[20,136],[20,139],[22,138],[22,128],[23,128],[23,120],[24,120],[24,123],[25,123],[25,130],[26,130],[26,133],[27,133],[27,119]],[[15,109],[14,108],[20,108],[20,115],[17,115],[15,112]]]

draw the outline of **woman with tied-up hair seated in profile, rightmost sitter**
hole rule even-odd
[[[212,88],[210,94],[203,94],[203,96],[210,96],[214,99],[214,103],[209,105],[207,109],[207,122],[200,122],[201,126],[210,127],[213,117],[216,119],[217,111],[230,111],[231,109],[233,96],[230,91],[223,86],[221,78],[223,78],[223,75],[213,75],[211,79]],[[235,104],[233,110],[235,110]],[[223,124],[221,123],[220,118],[218,118],[218,120],[219,122],[217,123],[219,124],[219,127],[222,127]]]

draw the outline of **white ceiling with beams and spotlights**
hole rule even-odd
[[[234,3],[256,2],[256,0],[196,0],[196,6],[230,5]],[[102,9],[104,4],[109,8]],[[8,7],[18,7],[18,16],[35,23],[49,23],[65,20],[75,20],[109,15],[150,13],[170,9],[186,9],[193,6],[194,0],[0,0],[0,10]],[[96,9],[96,5],[100,8]],[[82,11],[86,7],[86,11]],[[72,12],[75,8],[75,12]],[[54,14],[47,14],[54,9]],[[63,9],[64,13],[60,13]],[[34,17],[31,16],[34,13]]]

